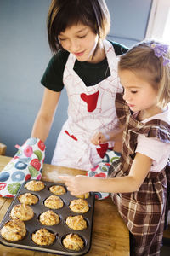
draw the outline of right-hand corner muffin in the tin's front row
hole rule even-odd
[[[69,250],[79,251],[84,247],[84,242],[77,234],[68,234],[63,239],[63,245]]]

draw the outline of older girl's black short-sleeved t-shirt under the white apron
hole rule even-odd
[[[111,42],[111,41],[110,41]],[[127,48],[122,44],[111,42],[116,55],[122,55],[127,52]],[[64,88],[63,73],[69,52],[62,49],[54,55],[48,63],[48,67],[43,73],[41,83],[49,90],[61,91]],[[75,61],[74,70],[82,79],[86,86],[99,84],[102,80],[111,75],[108,68],[107,58],[99,63],[89,63],[87,61]]]

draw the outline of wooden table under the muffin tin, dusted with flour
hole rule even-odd
[[[0,171],[8,164],[11,158],[0,156]],[[42,180],[57,182],[60,174],[84,175],[84,171],[52,166],[44,164]],[[0,198],[0,221],[13,199]],[[116,207],[111,198],[103,201],[95,201],[94,206],[94,226],[92,235],[92,246],[87,256],[129,256],[129,233],[127,227],[116,211]],[[0,256],[52,256],[52,253],[41,253],[13,247],[5,247],[0,244]],[[57,254],[55,254],[57,255]]]

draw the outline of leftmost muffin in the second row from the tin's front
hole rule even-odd
[[[26,221],[33,218],[34,212],[31,207],[26,204],[20,204],[13,207],[10,212],[11,218],[19,218],[20,220]]]

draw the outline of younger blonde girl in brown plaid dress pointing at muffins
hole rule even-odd
[[[109,178],[61,177],[72,195],[110,192],[132,234],[131,255],[160,255],[170,154],[170,54],[145,41],[122,55],[116,113],[124,125],[122,156]],[[167,173],[168,174],[168,173]]]

